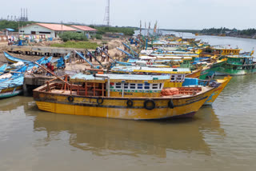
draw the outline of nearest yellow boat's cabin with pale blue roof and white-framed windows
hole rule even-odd
[[[75,74],[70,87],[85,96],[160,97],[169,80],[170,75]]]

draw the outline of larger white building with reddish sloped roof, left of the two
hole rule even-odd
[[[19,29],[19,34],[25,35],[40,35],[40,34],[50,34],[50,38],[58,38],[59,34],[66,31],[77,30],[71,28],[70,26],[65,26],[62,24],[46,24],[46,23],[33,23],[28,26],[22,26]]]

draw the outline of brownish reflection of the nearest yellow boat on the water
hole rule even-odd
[[[195,118],[169,121],[72,116],[40,112],[36,107],[26,114],[34,116],[34,131],[46,131],[40,143],[47,145],[62,138],[61,133],[68,133],[70,145],[97,156],[146,154],[165,158],[168,151],[210,155],[205,135],[225,136],[211,107],[200,109]]]

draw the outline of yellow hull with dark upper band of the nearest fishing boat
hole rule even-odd
[[[98,97],[73,96],[74,101],[68,101],[69,95],[46,93],[34,89],[34,100],[38,109],[52,113],[84,115],[90,117],[111,117],[134,120],[166,119],[169,117],[192,117],[206,102],[214,89],[195,96],[172,98],[174,109],[170,109],[168,98],[151,98],[155,102],[154,109],[146,109],[144,102],[149,98],[100,97],[102,104],[97,103]],[[133,101],[128,107],[127,101]]]

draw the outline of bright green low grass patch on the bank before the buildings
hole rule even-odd
[[[62,44],[55,43],[55,44],[52,44],[50,46],[92,50],[92,49],[96,49],[96,47],[98,47],[98,44],[96,42],[73,42],[73,41],[68,41],[68,42],[64,42]]]

